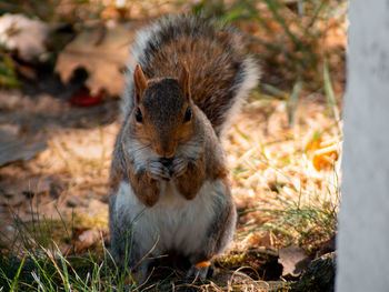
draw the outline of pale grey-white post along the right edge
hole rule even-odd
[[[351,0],[337,292],[389,291],[389,0]]]

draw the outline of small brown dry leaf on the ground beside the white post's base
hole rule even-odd
[[[282,275],[299,276],[310,263],[310,258],[299,246],[279,250],[278,262],[282,264]]]

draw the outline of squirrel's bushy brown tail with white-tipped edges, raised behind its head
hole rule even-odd
[[[124,92],[123,113],[132,108],[133,69],[139,63],[148,79],[177,78],[186,62],[193,102],[218,135],[257,87],[259,67],[246,53],[242,36],[230,27],[193,16],[166,17],[137,33]]]

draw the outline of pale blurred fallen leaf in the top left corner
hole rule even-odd
[[[42,21],[10,13],[0,18],[0,43],[24,61],[38,59],[47,51],[48,34],[49,26]]]

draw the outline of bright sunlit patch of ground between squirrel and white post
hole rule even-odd
[[[282,101],[255,101],[227,137],[232,193],[241,217],[236,249],[302,244],[307,250],[335,231],[339,203],[340,130],[319,99],[298,105],[295,124]],[[332,161],[312,164],[316,141],[337,151]],[[308,148],[308,150],[307,150]]]

